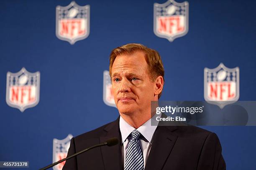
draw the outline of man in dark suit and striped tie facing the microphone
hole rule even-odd
[[[110,54],[112,93],[120,116],[72,138],[68,156],[117,137],[67,160],[63,170],[225,170],[215,133],[195,126],[151,126],[151,101],[158,101],[164,67],[155,50],[127,44]]]

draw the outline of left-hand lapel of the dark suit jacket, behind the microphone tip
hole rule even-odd
[[[105,170],[121,170],[123,169],[121,161],[121,138],[119,130],[119,118],[114,122],[110,123],[104,129],[107,132],[107,135],[100,137],[100,143],[104,143],[109,138],[118,138],[118,145],[114,146],[103,146],[101,148],[102,159],[104,162]]]

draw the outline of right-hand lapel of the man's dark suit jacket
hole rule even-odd
[[[145,170],[161,170],[172,151],[177,136],[171,133],[177,126],[158,126],[152,141],[152,146]]]

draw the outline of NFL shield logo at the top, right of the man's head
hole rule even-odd
[[[154,33],[172,42],[188,32],[189,3],[168,0],[164,4],[154,3]]]

